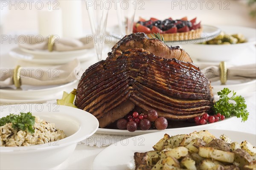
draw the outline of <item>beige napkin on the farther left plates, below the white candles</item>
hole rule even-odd
[[[49,38],[44,37],[20,37],[19,47],[29,50],[47,50]],[[54,41],[53,51],[73,51],[86,48],[93,48],[93,40],[89,40],[87,37],[80,39],[74,38],[59,38]]]

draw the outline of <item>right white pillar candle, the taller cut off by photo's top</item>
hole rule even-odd
[[[62,10],[63,37],[81,38],[82,34],[82,1],[59,0]]]

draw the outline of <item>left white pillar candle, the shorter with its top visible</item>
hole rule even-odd
[[[41,9],[38,11],[39,34],[43,37],[57,35],[62,37],[62,15],[61,9],[49,10]]]

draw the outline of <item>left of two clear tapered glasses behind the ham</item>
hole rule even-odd
[[[90,26],[93,34],[94,48],[98,60],[102,60],[104,36],[108,18],[108,8],[104,6],[106,0],[86,0],[86,9],[89,14]]]

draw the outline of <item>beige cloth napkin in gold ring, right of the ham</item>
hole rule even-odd
[[[219,65],[199,64],[201,72],[211,81],[219,79]],[[256,65],[227,66],[227,79],[256,79]]]

